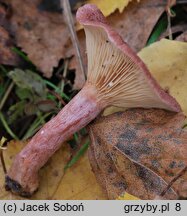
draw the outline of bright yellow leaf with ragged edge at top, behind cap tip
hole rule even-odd
[[[87,0],[86,3],[97,5],[104,16],[109,16],[117,9],[122,13],[130,1],[132,0]]]

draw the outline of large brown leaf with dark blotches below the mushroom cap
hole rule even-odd
[[[154,199],[187,164],[185,116],[159,109],[131,109],[90,126],[90,162],[110,199],[127,191]],[[187,173],[164,199],[187,196]]]

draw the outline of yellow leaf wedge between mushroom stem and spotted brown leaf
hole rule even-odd
[[[67,173],[59,184],[52,199],[65,200],[103,200],[107,199],[104,191],[98,185],[90,163],[85,154]]]

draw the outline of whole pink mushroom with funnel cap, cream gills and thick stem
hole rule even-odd
[[[77,20],[86,33],[88,78],[82,90],[14,158],[5,186],[22,196],[37,190],[39,169],[62,143],[106,107],[181,110],[95,5],[79,8]]]

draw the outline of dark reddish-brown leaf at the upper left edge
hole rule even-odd
[[[10,37],[10,33],[6,29],[6,9],[0,2],[0,64],[17,65],[19,63],[18,56],[11,50],[14,41]]]

